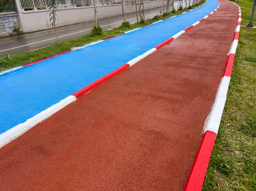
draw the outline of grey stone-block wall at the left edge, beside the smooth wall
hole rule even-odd
[[[10,35],[14,26],[20,26],[18,13],[2,13],[0,14],[0,37]]]

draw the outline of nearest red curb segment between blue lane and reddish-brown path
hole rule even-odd
[[[94,89],[96,86],[99,86],[101,83],[103,83],[106,80],[110,79],[111,77],[119,74],[121,71],[128,68],[129,66],[130,66],[129,64],[123,64],[121,67],[117,68],[116,70],[111,71],[111,73],[105,75],[104,77],[100,77],[100,79],[94,81],[90,85],[80,89],[79,91],[73,93],[72,95],[75,96],[76,98],[83,96],[84,94],[86,94],[89,91],[91,91],[92,89]]]

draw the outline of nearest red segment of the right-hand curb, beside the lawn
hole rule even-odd
[[[211,131],[203,134],[201,145],[191,167],[184,191],[202,189],[216,137],[217,135]]]

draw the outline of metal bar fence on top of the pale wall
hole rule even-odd
[[[109,5],[109,4],[121,4],[122,0],[96,0],[97,4]],[[125,3],[135,3],[136,0],[125,0]],[[159,0],[144,0],[148,1],[159,1]],[[21,9],[24,10],[40,10],[48,9],[51,4],[51,0],[20,0]],[[140,2],[140,0],[137,0]],[[56,0],[56,5],[58,7],[83,7],[83,6],[93,6],[93,0]]]

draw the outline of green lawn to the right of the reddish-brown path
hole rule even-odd
[[[256,190],[256,28],[253,0],[240,0],[242,26],[227,102],[202,190]],[[254,26],[256,14],[254,13]]]

